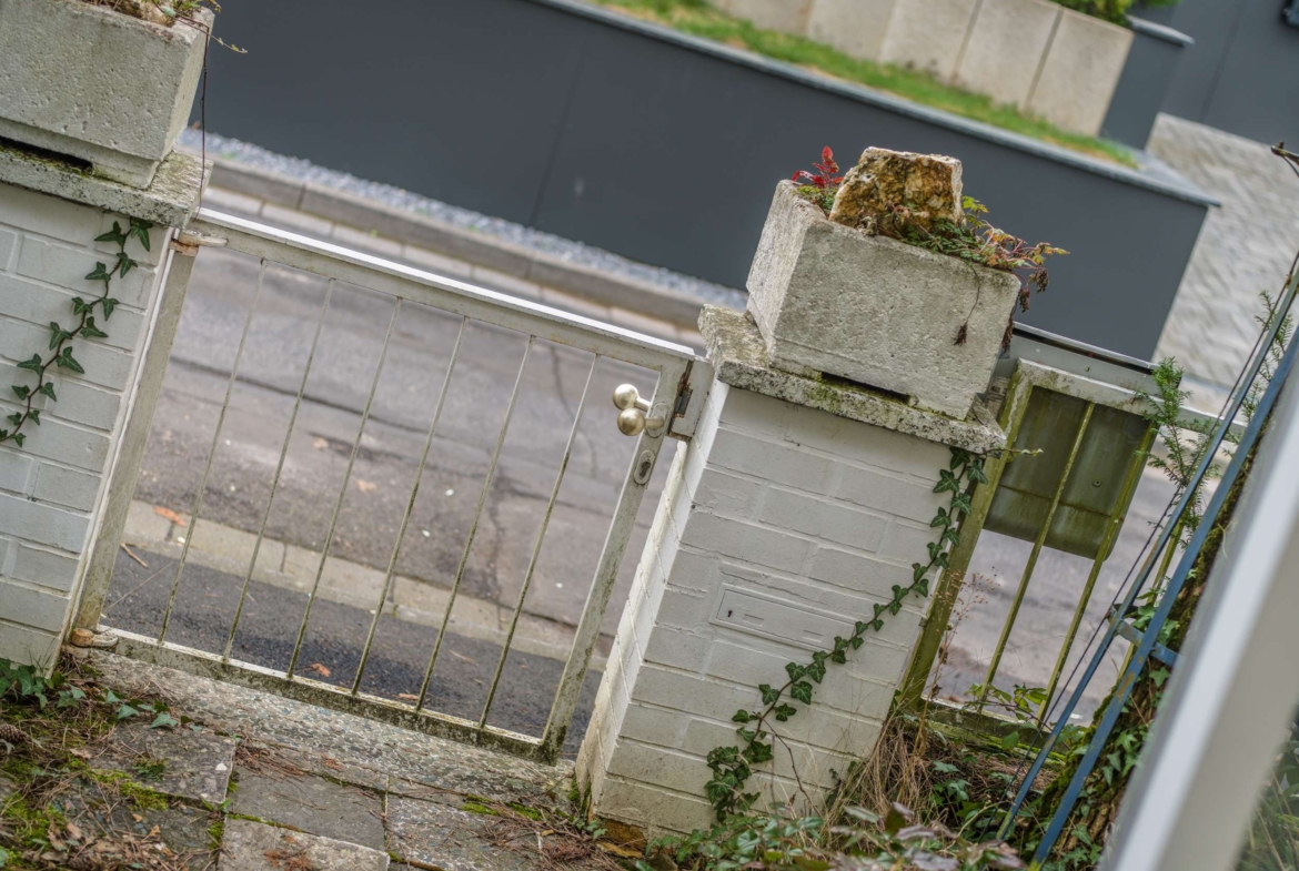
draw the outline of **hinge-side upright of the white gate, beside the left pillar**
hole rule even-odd
[[[197,252],[171,248],[168,261],[166,280],[162,284],[157,319],[149,336],[144,360],[140,363],[139,383],[131,402],[126,430],[122,434],[122,447],[113,465],[108,493],[104,504],[104,519],[95,536],[90,562],[86,567],[86,580],[82,584],[81,602],[74,626],[94,630],[104,610],[104,598],[113,580],[113,567],[117,565],[117,552],[126,531],[126,515],[135,497],[135,483],[144,462],[144,449],[148,447],[149,431],[153,427],[153,413],[157,409],[158,395],[166,375],[166,363],[175,344],[177,328],[181,325],[181,310],[190,288],[190,275]]]

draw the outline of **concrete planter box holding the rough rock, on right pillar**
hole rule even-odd
[[[1020,279],[831,222],[776,188],[748,275],[769,365],[824,373],[965,419],[987,389]],[[953,339],[968,323],[965,344]]]

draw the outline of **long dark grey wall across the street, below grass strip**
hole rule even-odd
[[[1205,214],[1176,180],[585,9],[231,0],[248,53],[212,52],[208,127],[733,287],[822,145],[955,154],[1000,226],[1073,252],[1028,323],[1154,350]]]

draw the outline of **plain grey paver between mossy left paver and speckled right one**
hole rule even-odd
[[[231,810],[375,850],[383,849],[378,796],[323,778],[239,772]]]

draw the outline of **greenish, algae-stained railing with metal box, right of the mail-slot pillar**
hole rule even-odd
[[[1154,392],[1148,366],[1098,360],[1099,349],[1065,349],[1056,337],[1033,337],[1033,353],[1017,358],[1000,408],[1007,445],[1035,456],[990,458],[987,483],[974,488],[970,513],[934,593],[921,639],[903,680],[899,704],[917,706],[938,661],[956,600],[966,582],[981,534],[987,530],[1031,543],[1000,632],[969,706],[981,714],[995,685],[1011,635],[1018,624],[1043,549],[1085,557],[1090,569],[1073,593],[1068,630],[1059,640],[1043,685],[1043,715],[1060,688],[1096,582],[1113,552],[1157,435],[1141,391]],[[1013,353],[1013,352],[1012,352]],[[1074,357],[1076,360],[1070,360]],[[1187,422],[1203,421],[1198,411]],[[1170,556],[1170,552],[1169,554]],[[1057,579],[1059,580],[1059,579]]]

